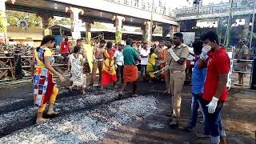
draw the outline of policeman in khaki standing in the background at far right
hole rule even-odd
[[[238,48],[236,49],[236,54],[234,56],[235,58],[238,59],[237,70],[242,72],[246,71],[247,62],[241,61],[241,59],[247,59],[249,54],[249,50],[248,50],[248,47],[245,45],[245,42],[246,42],[245,39],[242,39],[239,41]],[[240,85],[243,84],[243,75],[244,75],[243,73],[238,73],[238,81]]]

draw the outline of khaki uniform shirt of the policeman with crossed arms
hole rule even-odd
[[[171,49],[178,56],[178,58],[187,58],[190,55],[189,46],[186,46],[183,43],[180,46],[173,46]],[[170,59],[170,70],[186,70],[186,61],[180,65],[178,62],[174,61],[174,58],[171,57],[170,50],[167,50],[167,52],[167,59]]]

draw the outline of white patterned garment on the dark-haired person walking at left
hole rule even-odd
[[[74,57],[74,54],[70,54],[71,63],[71,75],[70,81],[73,82],[73,86],[84,86],[84,76],[82,73],[82,63],[80,59],[82,54],[78,54],[78,58]]]

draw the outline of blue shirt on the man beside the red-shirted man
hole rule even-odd
[[[192,71],[192,93],[193,94],[200,94],[204,90],[205,86],[205,79],[207,68],[199,69],[200,58],[194,64],[194,70]]]

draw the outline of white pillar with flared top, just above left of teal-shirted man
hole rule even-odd
[[[122,16],[114,16],[114,26],[115,26],[115,42],[122,42],[122,22],[125,21],[125,18]]]

